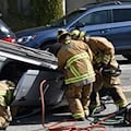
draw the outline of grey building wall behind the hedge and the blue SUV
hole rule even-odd
[[[83,7],[84,4],[87,3],[94,3],[94,2],[105,2],[105,1],[114,1],[114,0],[63,0],[63,12],[70,13],[73,10]],[[131,0],[120,0],[120,1],[130,1]],[[9,13],[9,2],[8,0],[0,0],[0,13],[2,13],[3,16],[7,16]],[[15,0],[16,2],[16,8],[17,12],[23,13],[25,15],[29,14],[31,11],[31,5],[29,2],[31,0]]]

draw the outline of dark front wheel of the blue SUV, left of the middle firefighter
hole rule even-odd
[[[59,43],[56,41],[49,41],[44,44],[40,49],[41,50],[48,50],[49,52],[53,53],[55,56],[57,56],[58,50],[60,49],[61,45]]]

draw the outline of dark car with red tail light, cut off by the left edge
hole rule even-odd
[[[0,19],[0,39],[15,43],[16,36],[13,31]]]

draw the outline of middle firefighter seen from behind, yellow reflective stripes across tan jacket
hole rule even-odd
[[[57,39],[62,45],[57,57],[58,69],[63,71],[68,85],[66,97],[72,117],[83,121],[90,114],[90,95],[95,81],[92,51],[83,41],[72,40],[64,29],[58,31]]]

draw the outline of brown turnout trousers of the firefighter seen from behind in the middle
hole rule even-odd
[[[66,97],[74,119],[85,118],[90,115],[88,106],[92,87],[93,83],[83,86],[71,84],[67,88]]]

